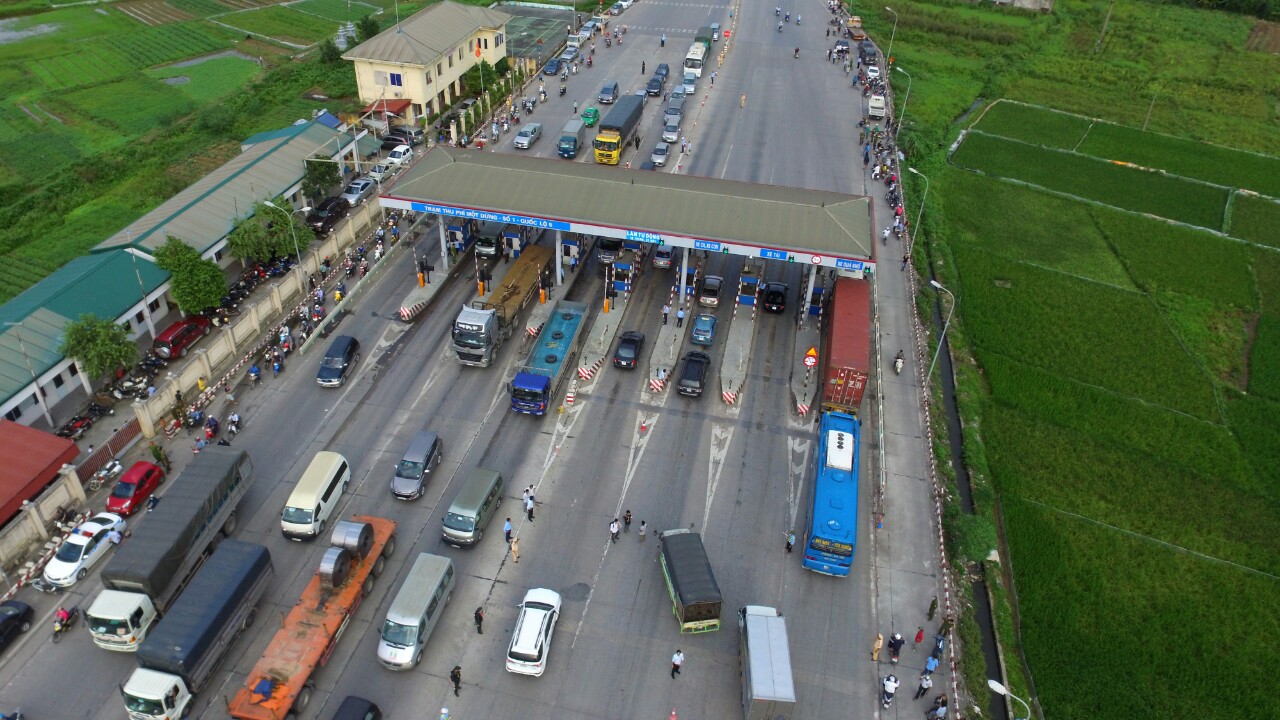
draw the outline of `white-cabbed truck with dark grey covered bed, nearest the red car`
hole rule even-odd
[[[247,452],[209,446],[170,480],[159,511],[102,569],[105,589],[84,614],[99,647],[138,650],[218,542],[236,530],[236,506],[252,474]]]

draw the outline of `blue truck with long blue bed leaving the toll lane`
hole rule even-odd
[[[526,415],[545,415],[552,397],[573,372],[573,359],[582,345],[586,305],[561,300],[538,333],[525,365],[511,380],[511,409]]]

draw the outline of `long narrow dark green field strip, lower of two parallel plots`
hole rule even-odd
[[[1093,158],[970,132],[951,161],[987,174],[1192,225],[1220,229],[1228,191]]]

